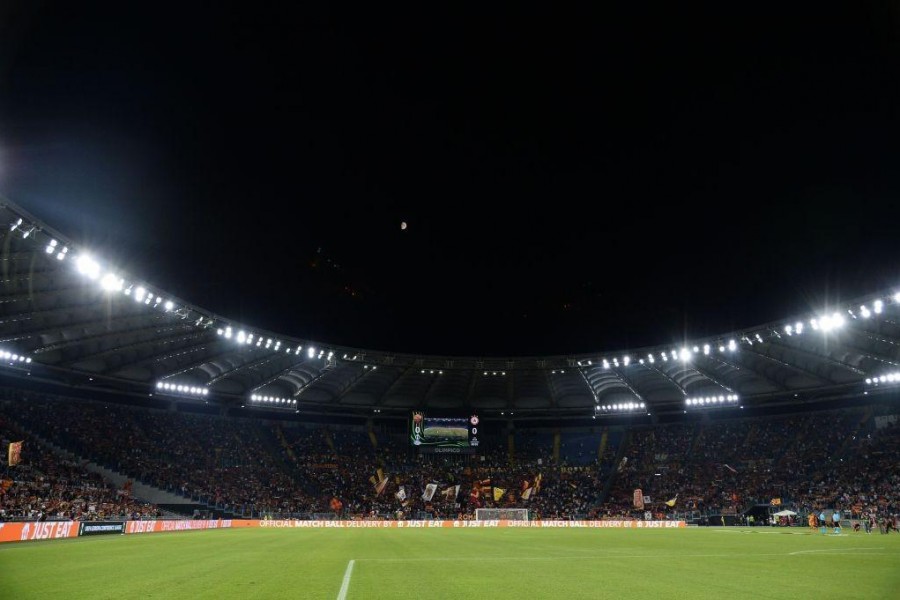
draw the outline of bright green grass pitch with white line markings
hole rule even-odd
[[[0,545],[9,599],[898,597],[900,535],[878,533],[236,529]]]

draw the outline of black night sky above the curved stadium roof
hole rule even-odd
[[[0,5],[0,193],[236,321],[564,354],[900,285],[895,3],[131,4]]]

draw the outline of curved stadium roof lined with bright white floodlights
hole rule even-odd
[[[236,322],[0,207],[0,356],[36,378],[224,406],[581,416],[856,397],[900,381],[900,294],[673,346],[436,356],[337,346]]]

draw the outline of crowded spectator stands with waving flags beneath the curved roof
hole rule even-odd
[[[4,390],[0,419],[4,443],[27,440],[23,463],[7,470],[6,519],[160,514],[78,461],[252,517],[471,518],[475,508],[525,507],[532,518],[641,518],[648,510],[696,521],[737,517],[773,499],[801,514],[825,506],[858,516],[900,511],[900,427],[889,406],[593,431],[520,428],[514,452],[502,431],[476,455],[419,454],[399,425],[232,418],[14,389]],[[78,460],[61,459],[46,440]],[[431,498],[423,494],[429,483],[437,484]],[[633,504],[635,489],[650,498],[644,509]]]

